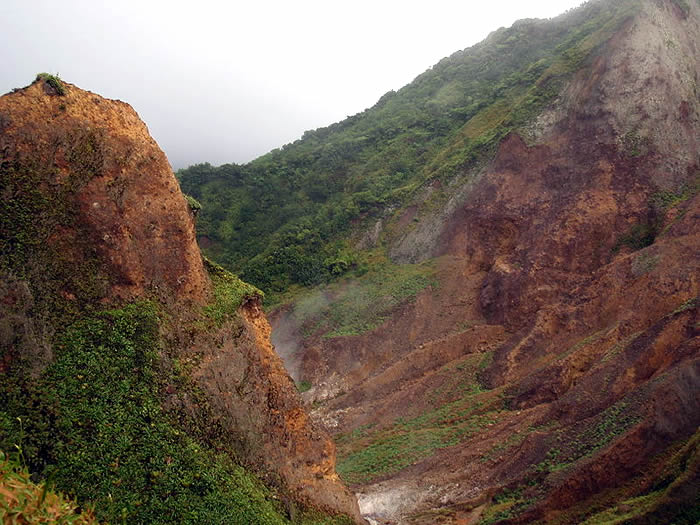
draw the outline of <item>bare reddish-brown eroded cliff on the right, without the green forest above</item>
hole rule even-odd
[[[325,319],[368,279],[273,315],[380,523],[698,519],[700,5],[631,13],[492,159],[355,236],[420,263],[414,298],[348,335]]]

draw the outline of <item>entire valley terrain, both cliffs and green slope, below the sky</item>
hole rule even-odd
[[[176,173],[1,97],[2,519],[700,521],[698,42],[592,0]]]

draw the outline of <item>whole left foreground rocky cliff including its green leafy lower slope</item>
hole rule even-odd
[[[361,521],[260,292],[204,263],[128,104],[47,75],[0,98],[0,198],[6,452],[101,519]]]

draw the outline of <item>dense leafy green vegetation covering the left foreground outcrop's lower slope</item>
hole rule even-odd
[[[68,327],[37,381],[3,381],[0,449],[93,502],[100,519],[286,522],[259,481],[170,423],[158,397],[157,331],[151,303]]]

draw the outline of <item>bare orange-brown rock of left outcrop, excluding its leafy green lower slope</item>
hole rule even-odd
[[[172,417],[185,428],[198,421],[200,436],[216,427],[222,450],[279,491],[292,518],[311,507],[361,522],[335,473],[333,442],[304,411],[252,287],[228,275],[243,290],[231,304],[242,306],[207,318],[219,292],[194,214],[146,125],[128,104],[71,84],[61,91],[38,78],[0,98],[0,374],[28,357],[29,341],[46,350],[30,356],[40,373],[51,334],[86,311],[155,301],[170,319],[160,326],[163,366],[193,363],[162,393]]]

